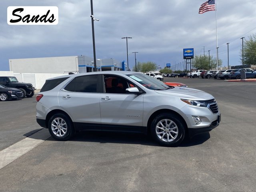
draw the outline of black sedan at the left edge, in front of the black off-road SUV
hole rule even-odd
[[[22,99],[23,92],[16,88],[6,87],[0,84],[0,101],[7,101],[8,99]]]

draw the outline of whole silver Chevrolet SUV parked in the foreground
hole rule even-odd
[[[137,72],[51,78],[36,100],[36,120],[56,140],[68,140],[76,130],[121,131],[151,133],[161,145],[177,146],[220,122],[212,95]]]

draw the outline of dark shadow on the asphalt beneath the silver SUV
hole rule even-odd
[[[182,142],[178,147],[189,147],[200,145],[210,138],[209,133],[196,135],[193,138]],[[48,140],[55,141],[50,137]],[[77,132],[69,141],[77,142],[97,142],[97,143],[120,143],[120,144],[140,144],[147,146],[160,146],[150,135],[136,133],[120,133],[120,132],[95,132],[81,131]]]

